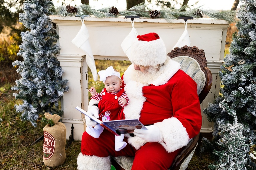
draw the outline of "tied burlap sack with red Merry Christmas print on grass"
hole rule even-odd
[[[56,114],[44,114],[46,119],[52,119],[54,126],[44,127],[43,160],[49,167],[55,167],[63,164],[66,159],[66,126],[58,122],[60,117]]]

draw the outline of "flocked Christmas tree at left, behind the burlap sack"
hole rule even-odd
[[[12,88],[18,90],[13,95],[22,99],[16,105],[16,111],[22,112],[21,119],[30,121],[36,126],[39,114],[49,112],[62,114],[58,107],[60,97],[68,87],[68,81],[62,80],[63,70],[55,54],[60,49],[57,44],[58,35],[53,23],[49,20],[51,0],[28,0],[23,4],[24,13],[20,13],[20,22],[28,29],[21,33],[22,44],[18,55],[23,61],[15,61],[17,72],[21,78],[16,80]]]

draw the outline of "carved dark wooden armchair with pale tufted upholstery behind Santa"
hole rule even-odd
[[[181,48],[174,48],[168,56],[176,62],[181,63],[181,70],[187,73],[197,83],[197,94],[200,104],[210,91],[212,86],[212,73],[207,67],[204,50],[196,46],[187,45]],[[199,134],[190,139],[189,143],[183,147],[181,153],[176,157],[169,170],[185,170],[195,152],[198,144]],[[133,157],[118,156],[112,157],[112,165],[117,170],[131,170]]]

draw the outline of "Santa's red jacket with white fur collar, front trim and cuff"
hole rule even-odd
[[[133,65],[123,75],[125,91],[130,99],[124,107],[126,119],[139,119],[144,125],[154,124],[163,134],[160,142],[168,151],[185,146],[202,125],[197,85],[180,70],[180,64],[167,57],[156,75],[143,78]],[[146,143],[135,136],[128,142],[139,149]]]

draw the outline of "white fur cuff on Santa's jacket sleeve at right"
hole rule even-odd
[[[173,152],[188,144],[189,135],[186,128],[177,118],[172,117],[165,119],[162,122],[155,123],[154,125],[162,132],[164,141],[159,143],[167,152]]]

